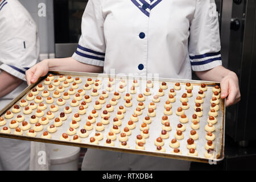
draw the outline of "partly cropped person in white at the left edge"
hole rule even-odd
[[[37,63],[34,20],[17,0],[0,0],[0,110],[27,87],[25,73]],[[28,170],[31,142],[0,138],[0,170]]]

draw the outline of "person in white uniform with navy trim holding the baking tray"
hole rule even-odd
[[[44,60],[26,73],[35,82],[52,70],[220,81],[226,104],[240,100],[238,78],[222,67],[214,0],[93,0],[82,16],[72,57]],[[82,64],[81,64],[82,63]],[[189,162],[88,149],[85,170],[189,169]]]

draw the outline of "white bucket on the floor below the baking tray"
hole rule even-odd
[[[77,171],[80,147],[47,143],[51,171]]]

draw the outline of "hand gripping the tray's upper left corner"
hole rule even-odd
[[[46,76],[49,71],[48,60],[43,60],[26,71],[27,84],[34,84],[39,77]]]

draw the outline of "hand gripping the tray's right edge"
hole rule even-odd
[[[241,100],[238,77],[236,73],[230,72],[227,76],[222,78],[221,98],[226,98],[226,106],[236,104]]]

